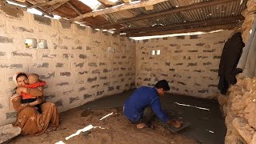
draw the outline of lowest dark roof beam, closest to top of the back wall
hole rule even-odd
[[[164,31],[155,31],[148,33],[134,33],[134,34],[126,34],[127,37],[146,37],[153,35],[166,35],[166,34],[182,34],[182,33],[191,33],[191,32],[209,32],[212,30],[233,30],[236,24],[227,24],[227,25],[218,25],[218,26],[205,26],[205,27],[197,27],[191,29],[182,29],[182,30],[164,30]]]

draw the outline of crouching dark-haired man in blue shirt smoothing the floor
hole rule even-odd
[[[166,80],[157,82],[154,87],[142,86],[134,91],[124,103],[123,112],[131,123],[141,129],[148,126],[154,114],[162,121],[178,128],[181,123],[170,119],[162,110],[159,96],[163,96],[170,86]]]

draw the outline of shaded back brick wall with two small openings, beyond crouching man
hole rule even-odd
[[[198,98],[218,95],[218,66],[232,31],[155,38],[136,43],[136,86],[170,83],[170,93]],[[151,55],[160,50],[160,55]]]

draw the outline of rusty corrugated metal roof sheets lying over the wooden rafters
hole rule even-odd
[[[31,1],[31,0],[27,0]],[[37,1],[37,0],[33,0]],[[135,2],[137,0],[132,0],[132,2]],[[227,0],[168,0],[166,2],[161,2],[154,5],[153,10],[146,10],[145,7],[141,8],[135,8],[130,10],[122,10],[118,12],[114,12],[111,14],[104,14],[96,17],[90,17],[90,18],[82,18],[80,21],[85,21],[87,25],[93,26],[93,27],[104,27],[104,29],[122,29],[130,30],[130,28],[133,28],[135,30],[138,30],[137,32],[140,32],[139,30],[146,30],[142,28],[154,28],[155,26],[176,26],[181,25],[184,23],[190,23],[190,22],[203,22],[205,20],[210,19],[216,19],[216,18],[232,18],[241,15],[242,10],[246,9],[246,3],[247,0],[234,0],[232,2],[226,2]],[[84,3],[80,2],[79,0],[70,0],[69,1],[76,9],[81,13],[85,14],[88,12],[91,12],[92,9],[89,6],[86,6]],[[106,1],[104,1],[106,2]],[[218,5],[211,5],[211,6],[204,6],[193,10],[183,10],[180,12],[174,12],[169,13],[165,15],[158,15],[154,16],[154,18],[145,18],[145,19],[138,19],[136,21],[130,20],[131,18],[141,18],[145,15],[150,14],[158,14],[163,11],[167,10],[178,10],[182,8],[183,6],[194,6],[195,4],[204,3],[204,2],[220,2]],[[116,5],[124,3],[122,0],[118,0],[116,2]],[[34,3],[36,4],[36,3]],[[46,6],[40,6],[42,10],[47,10],[50,5]],[[98,9],[104,9],[108,6],[104,6],[104,3],[102,3],[102,6],[99,6]],[[57,9],[52,11],[53,14],[58,14],[64,18],[75,18],[79,14],[76,12],[76,10],[73,10],[70,5],[67,3],[63,4],[62,6],[59,6]],[[129,21],[127,21],[127,19]],[[124,21],[124,22],[121,22]],[[117,23],[118,22],[118,23]],[[171,27],[170,30],[178,30],[178,29],[185,29],[190,27],[200,27],[200,26],[217,26],[222,24],[229,24],[234,23],[238,21],[232,21],[232,22],[211,22],[211,23],[202,23],[202,24],[196,24],[193,26],[180,26],[178,27]],[[120,31],[120,30],[118,30]],[[150,30],[149,30],[150,31]],[[129,32],[129,31],[128,31]]]

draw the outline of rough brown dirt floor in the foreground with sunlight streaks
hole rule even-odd
[[[111,114],[113,113],[113,114]],[[107,114],[110,116],[103,118]],[[103,118],[102,120],[100,120]],[[102,110],[82,110],[75,108],[61,114],[62,124],[58,130],[41,136],[15,138],[10,143],[198,143],[180,134],[173,134],[154,120],[153,128],[138,130],[122,114],[122,108]],[[66,140],[71,134],[92,125],[93,129]],[[98,127],[96,127],[98,126]]]

